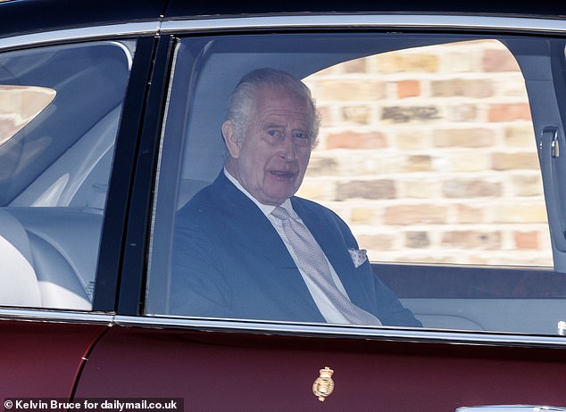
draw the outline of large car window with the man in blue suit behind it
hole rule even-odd
[[[554,270],[545,206],[552,196],[539,149],[540,130],[562,130],[562,123],[556,101],[542,98],[554,88],[549,47],[528,40],[411,33],[181,39],[146,314],[556,334],[564,279]],[[279,184],[300,175],[301,161],[272,161],[262,148],[274,144],[259,138],[247,147],[246,139],[224,142],[257,137],[238,135],[230,93],[246,73],[268,76],[265,68],[302,79],[318,121],[305,126],[301,116],[279,112],[277,120],[250,117],[241,130],[278,142],[296,130],[318,136],[289,209],[319,243],[345,305],[379,323],[347,320],[341,304],[325,301],[326,286],[312,285],[308,263],[270,215]],[[262,102],[238,107],[261,112]],[[295,152],[278,156],[300,159],[298,146],[289,147]],[[251,166],[258,162],[263,169]],[[266,176],[270,185],[262,185]]]

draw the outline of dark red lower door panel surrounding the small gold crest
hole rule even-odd
[[[319,369],[335,372],[324,402]],[[184,398],[185,410],[454,412],[564,404],[563,350],[112,327],[76,397]]]

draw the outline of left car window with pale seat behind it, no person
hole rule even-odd
[[[0,305],[91,309],[134,45],[0,54]]]

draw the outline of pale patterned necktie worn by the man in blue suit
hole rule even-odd
[[[381,325],[377,317],[355,306],[345,297],[344,293],[340,292],[332,279],[324,252],[311,232],[301,222],[292,218],[289,212],[281,206],[275,208],[271,215],[281,220],[283,231],[295,251],[299,268],[326,294],[348,322],[354,325]]]

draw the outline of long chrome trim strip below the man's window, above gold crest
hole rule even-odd
[[[395,326],[359,327],[348,325],[306,325],[285,322],[230,319],[133,317],[116,315],[114,325],[147,328],[171,328],[249,334],[303,335],[323,338],[349,338],[404,342],[440,342],[484,346],[547,347],[566,349],[563,336],[538,336],[493,332],[401,329]]]

